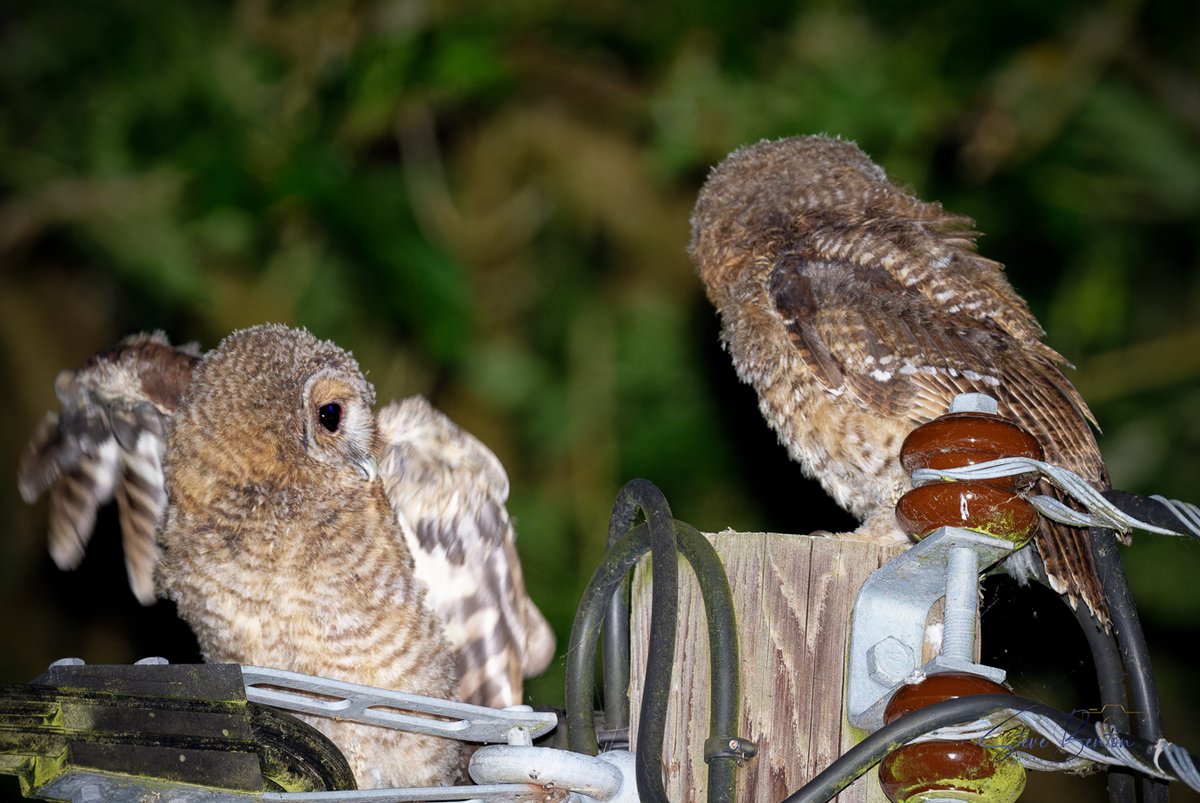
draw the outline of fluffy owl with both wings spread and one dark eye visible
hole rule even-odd
[[[505,706],[552,657],[494,455],[422,398],[377,415],[337,346],[264,325],[199,358],[137,335],[58,388],[20,471],[26,498],[50,489],[52,555],[77,563],[115,493],[134,591],[154,571],[206,660]],[[456,742],[313,723],[364,787],[458,769]]]

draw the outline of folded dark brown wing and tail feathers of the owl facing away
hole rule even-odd
[[[988,394],[1001,415],[1038,438],[1048,461],[1108,485],[1091,411],[1052,349],[1031,348],[1018,340],[1022,332],[990,318],[912,302],[919,290],[870,263],[790,256],[773,268],[769,292],[791,342],[829,391],[913,427],[946,413],[958,394]],[[1045,483],[1039,490],[1057,495]],[[1055,589],[1103,618],[1087,538],[1048,522],[1038,550]]]

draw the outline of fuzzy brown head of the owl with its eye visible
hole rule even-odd
[[[371,383],[335,343],[281,324],[242,329],[197,367],[168,461],[266,484],[298,472],[372,481],[373,407]]]

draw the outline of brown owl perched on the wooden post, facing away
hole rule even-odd
[[[997,398],[1048,461],[1108,485],[1066,360],[1001,265],[976,252],[972,221],[893,186],[854,144],[797,137],[739,150],[713,170],[691,226],[738,376],[860,532],[905,539],[900,444],[960,392]],[[1046,526],[1036,543],[1054,588],[1106,621],[1086,539]],[[1030,551],[1009,568],[1027,577]]]

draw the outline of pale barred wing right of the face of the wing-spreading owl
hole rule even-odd
[[[554,635],[526,593],[503,466],[419,396],[379,412],[379,437],[380,479],[455,649],[460,699],[522,702],[522,678],[546,669]]]

